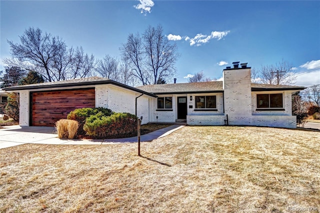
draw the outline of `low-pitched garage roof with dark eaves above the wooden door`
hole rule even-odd
[[[128,86],[109,78],[104,77],[84,77],[84,78],[77,78],[72,80],[60,80],[60,81],[53,81],[53,82],[44,82],[44,83],[34,83],[34,84],[27,84],[27,85],[18,85],[18,86],[9,86],[3,88],[5,91],[14,91],[14,90],[26,90],[26,89],[49,89],[49,88],[60,88],[60,87],[71,87],[71,86],[84,86],[84,85],[98,85],[98,84],[113,84],[120,86],[122,88],[126,88],[132,91],[136,91],[139,93],[144,93],[146,95],[156,97],[154,94],[150,94],[146,91],[143,91],[138,88],[134,88],[132,86]]]

